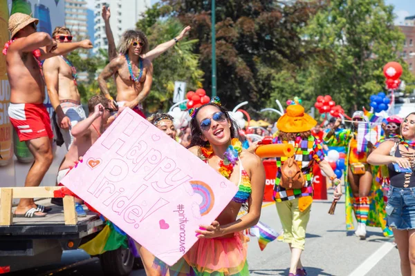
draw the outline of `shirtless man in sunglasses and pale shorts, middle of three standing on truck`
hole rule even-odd
[[[68,28],[56,27],[52,38],[57,43],[71,43],[73,36]],[[57,115],[57,125],[68,150],[73,143],[71,128],[86,119],[77,90],[76,69],[66,55],[46,59],[43,69],[49,99]]]

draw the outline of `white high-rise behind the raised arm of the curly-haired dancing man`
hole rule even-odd
[[[93,52],[97,53],[99,48],[107,49],[108,46],[104,21],[101,17],[102,6],[108,6],[111,10],[109,23],[116,45],[118,45],[122,32],[136,28],[136,22],[141,18],[142,12],[145,12],[150,5],[151,0],[95,0],[95,42]]]

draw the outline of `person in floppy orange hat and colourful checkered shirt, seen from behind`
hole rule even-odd
[[[286,242],[291,250],[290,276],[306,275],[300,257],[304,250],[306,227],[313,201],[314,162],[317,162],[322,171],[329,175],[331,181],[337,185],[334,191],[335,199],[338,200],[342,196],[340,180],[335,176],[329,162],[324,160],[321,144],[311,134],[311,129],[316,124],[317,121],[306,114],[299,104],[288,106],[286,113],[277,121],[279,133],[274,142],[294,146],[294,160],[297,161],[298,168],[304,177],[301,188],[284,188],[288,186],[286,177],[284,177],[284,164],[290,159],[277,157],[277,178],[273,198],[284,229],[283,242]]]

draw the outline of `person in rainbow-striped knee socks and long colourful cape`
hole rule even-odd
[[[371,148],[369,145],[366,152],[358,152],[358,124],[364,121],[364,113],[356,111],[353,113],[353,124],[351,129],[335,132],[342,123],[342,119],[335,121],[331,130],[324,137],[328,146],[347,147],[346,170],[344,170],[344,183],[346,186],[346,228],[353,230],[352,211],[358,221],[355,235],[360,239],[366,238],[366,226],[381,227],[383,235],[393,235],[386,225],[385,201],[383,200],[382,184],[380,178],[374,174],[374,169],[367,163],[367,156]],[[373,145],[371,145],[373,148]],[[373,177],[375,175],[375,177]]]

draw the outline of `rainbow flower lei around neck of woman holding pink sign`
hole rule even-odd
[[[239,141],[238,138],[233,138],[230,143],[230,146],[228,146],[228,148],[225,151],[225,154],[223,155],[223,160],[219,161],[219,173],[227,179],[230,178],[230,175],[233,172],[233,168],[239,160],[239,153],[241,153],[241,151],[241,141]],[[201,152],[201,159],[203,161],[208,161],[209,157],[213,154],[212,146],[208,144],[208,146],[201,148]]]

